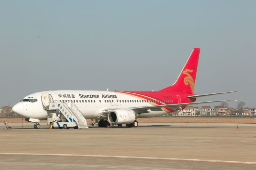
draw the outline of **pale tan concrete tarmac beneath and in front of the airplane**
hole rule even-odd
[[[0,124],[0,169],[256,169],[256,124],[139,123],[49,129]],[[2,168],[1,168],[2,167]]]

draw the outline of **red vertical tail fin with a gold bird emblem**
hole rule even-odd
[[[183,92],[192,94],[194,92],[196,82],[196,71],[199,53],[200,48],[194,48],[176,82],[173,85],[166,87],[160,91]]]

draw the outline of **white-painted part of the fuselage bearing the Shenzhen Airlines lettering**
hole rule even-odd
[[[86,119],[106,119],[102,113],[105,109],[132,108],[155,105],[148,100],[134,95],[120,93],[118,91],[42,91],[24,97],[13,107],[15,113],[25,118],[47,119],[49,111],[44,108],[42,94],[48,93],[53,101],[74,102]],[[49,97],[50,98],[50,97]],[[33,102],[33,99],[37,99]],[[51,101],[52,100],[52,101]],[[138,117],[156,117],[166,115],[166,111],[150,111]]]

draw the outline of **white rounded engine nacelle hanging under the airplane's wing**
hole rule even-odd
[[[108,113],[108,121],[113,124],[133,123],[135,119],[135,112],[131,109],[116,109]]]

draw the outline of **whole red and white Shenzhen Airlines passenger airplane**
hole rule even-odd
[[[12,110],[26,121],[33,120],[31,122],[36,123],[34,128],[40,128],[39,121],[46,120],[50,113],[56,112],[49,110],[49,103],[71,102],[85,119],[98,122],[98,127],[107,127],[110,123],[118,124],[118,127],[122,124],[138,127],[138,117],[159,117],[184,109],[187,105],[236,101],[196,102],[199,97],[237,92],[194,94],[199,54],[200,48],[194,48],[175,83],[159,91],[41,91],[27,95]]]

